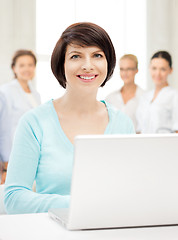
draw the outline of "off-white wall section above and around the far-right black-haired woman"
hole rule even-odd
[[[178,1],[147,0],[147,65],[151,56],[159,51],[170,52],[174,71],[170,85],[178,88]],[[153,87],[149,69],[147,88]]]

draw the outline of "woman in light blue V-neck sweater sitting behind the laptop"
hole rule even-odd
[[[62,33],[51,68],[66,91],[20,121],[5,187],[8,213],[69,206],[76,135],[134,133],[127,116],[96,100],[98,88],[109,80],[114,67],[114,47],[101,27],[76,23]]]

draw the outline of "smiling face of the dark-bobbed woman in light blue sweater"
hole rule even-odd
[[[107,76],[104,52],[96,46],[70,44],[65,54],[66,89],[98,90]]]

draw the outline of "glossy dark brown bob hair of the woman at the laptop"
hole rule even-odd
[[[116,65],[116,55],[112,41],[107,32],[100,26],[80,22],[70,25],[61,35],[51,56],[51,69],[59,84],[66,88],[64,62],[66,49],[69,44],[79,46],[97,46],[105,54],[108,63],[108,72],[101,87],[110,79]]]

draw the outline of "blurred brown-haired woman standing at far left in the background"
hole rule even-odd
[[[0,155],[2,156],[1,160],[5,163],[2,183],[5,180],[5,171],[19,118],[40,104],[40,96],[31,84],[36,68],[34,53],[29,50],[16,51],[12,58],[11,68],[15,79],[0,88],[0,125],[5,126],[0,126],[3,128],[0,136]]]

